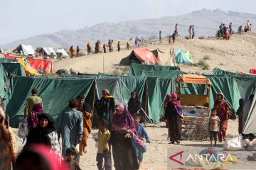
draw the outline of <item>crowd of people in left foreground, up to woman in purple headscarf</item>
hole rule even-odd
[[[146,152],[144,142],[150,142],[142,125],[139,109],[141,103],[136,92],[132,92],[128,106],[115,104],[114,97],[102,89],[102,98],[95,102],[99,116],[97,168],[112,169],[111,154],[115,169],[139,169]],[[9,117],[0,109],[0,168],[31,169],[45,166],[39,159],[48,154],[48,163],[58,164],[62,169],[80,169],[80,157],[86,154],[87,139],[92,132],[93,111],[79,95],[68,103],[68,110],[61,114],[58,128],[49,113],[43,111],[43,100],[38,90],[32,89],[26,100],[24,121],[28,122],[26,144],[17,158],[15,135],[9,126]],[[61,142],[60,142],[61,139]],[[61,145],[60,145],[61,144]],[[110,152],[112,149],[112,152]],[[34,157],[32,157],[34,155]],[[47,159],[48,160],[48,159]],[[49,165],[55,166],[55,165]],[[28,168],[31,166],[30,168]]]

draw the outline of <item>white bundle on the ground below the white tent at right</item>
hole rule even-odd
[[[235,136],[224,143],[223,149],[230,151],[238,151],[245,148],[248,150],[256,150],[256,140],[254,138],[255,135],[252,133]]]

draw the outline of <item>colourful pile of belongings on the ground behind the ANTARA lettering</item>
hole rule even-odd
[[[238,164],[238,158],[233,154],[223,152],[217,147],[209,147],[201,151],[197,157],[200,159],[188,159],[186,166],[197,166],[206,169],[222,168],[223,165]]]

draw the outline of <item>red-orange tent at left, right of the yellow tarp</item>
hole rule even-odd
[[[53,65],[53,61],[51,60],[34,59],[34,58],[29,58],[28,60],[31,66],[36,70],[43,69],[48,73],[56,72],[55,67]]]

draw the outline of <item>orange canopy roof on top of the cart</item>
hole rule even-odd
[[[176,80],[181,83],[210,84],[210,79],[201,75],[196,75],[196,74],[179,75]]]

